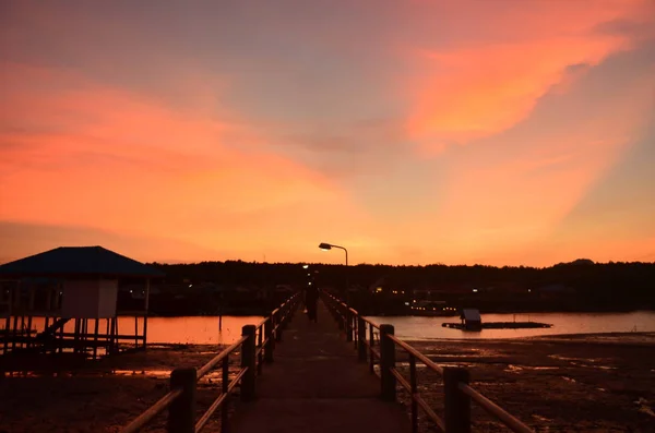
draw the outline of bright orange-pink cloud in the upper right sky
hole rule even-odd
[[[477,4],[477,3],[476,3]],[[524,2],[502,10],[493,3],[493,19],[479,23],[480,12],[446,11],[466,27],[479,28],[465,41],[415,47],[414,80],[406,92],[414,100],[408,134],[424,152],[442,151],[508,130],[525,119],[538,99],[562,80],[571,67],[586,68],[632,47],[626,32],[598,32],[609,21],[631,17],[645,2]],[[449,16],[442,16],[444,21]],[[561,91],[562,88],[560,88]]]

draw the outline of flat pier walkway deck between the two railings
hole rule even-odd
[[[406,409],[380,398],[380,381],[358,361],[323,302],[318,323],[296,311],[255,395],[239,404],[230,432],[412,431]]]

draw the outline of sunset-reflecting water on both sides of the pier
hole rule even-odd
[[[655,312],[638,311],[632,313],[535,313],[535,314],[483,314],[485,322],[541,322],[550,323],[551,328],[535,329],[483,329],[481,332],[463,332],[441,326],[444,322],[458,322],[458,317],[421,317],[421,316],[386,316],[369,317],[378,324],[394,325],[395,334],[407,340],[433,338],[519,338],[557,334],[595,334],[655,332]],[[229,345],[241,336],[243,325],[257,325],[261,316],[224,316],[223,330],[218,332],[218,316],[187,317],[150,317],[147,321],[148,344],[195,344]],[[319,317],[332,320],[330,317]],[[142,329],[139,321],[139,329]],[[105,320],[100,320],[104,330]],[[43,329],[43,318],[35,318],[33,327]],[[66,332],[73,332],[74,325],[69,322]],[[93,330],[90,321],[88,330]],[[134,335],[134,318],[120,317],[119,333]]]

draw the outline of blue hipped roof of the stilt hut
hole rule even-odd
[[[60,246],[0,265],[0,276],[163,277],[164,273],[102,246]]]

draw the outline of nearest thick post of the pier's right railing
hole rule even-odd
[[[468,370],[460,366],[443,369],[443,412],[446,433],[471,433],[471,398],[460,390],[468,384]]]

